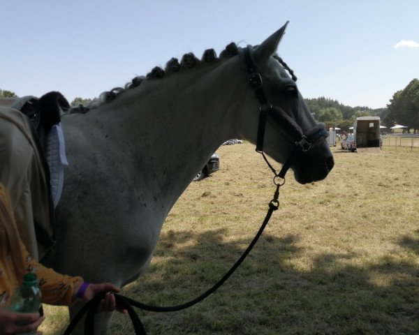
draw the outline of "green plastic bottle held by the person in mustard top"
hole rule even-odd
[[[20,313],[38,313],[41,309],[41,289],[39,288],[36,274],[25,274],[23,283],[10,299],[9,311]],[[19,333],[22,335],[35,334],[36,332]]]

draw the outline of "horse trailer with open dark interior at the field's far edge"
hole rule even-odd
[[[355,149],[381,148],[380,117],[358,117],[353,124]]]

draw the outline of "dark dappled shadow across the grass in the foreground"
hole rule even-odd
[[[249,241],[230,241],[227,230],[163,232],[149,273],[123,293],[157,306],[182,304],[214,285]],[[297,241],[263,234],[214,295],[176,313],[139,311],[147,334],[419,334],[419,238],[399,240],[402,262],[323,254],[310,269],[298,261],[307,251]],[[133,330],[116,315],[111,334]]]

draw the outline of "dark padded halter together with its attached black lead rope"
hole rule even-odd
[[[120,308],[124,308],[128,311],[128,314],[131,318],[131,321],[133,322],[133,327],[135,334],[137,335],[146,335],[145,329],[142,325],[142,322],[140,321],[140,318],[138,318],[137,313],[135,313],[133,306],[140,308],[145,311],[151,311],[151,312],[174,312],[174,311],[181,311],[182,309],[189,308],[195,304],[197,304],[200,301],[203,301],[206,297],[211,295],[213,292],[215,292],[223,283],[227,281],[228,278],[233,274],[233,272],[239,267],[244,259],[249,255],[251,249],[258,241],[260,235],[263,233],[263,230],[265,230],[265,227],[267,223],[269,222],[273,211],[276,211],[279,208],[279,188],[284,185],[285,182],[285,174],[288,171],[288,169],[291,167],[295,156],[298,153],[302,153],[303,151],[307,151],[311,149],[312,144],[317,142],[321,137],[327,136],[327,133],[325,131],[324,126],[321,124],[318,124],[315,126],[311,131],[307,132],[306,134],[303,133],[300,126],[298,126],[291,117],[289,117],[284,110],[281,110],[280,107],[272,106],[270,103],[268,103],[265,92],[263,91],[263,82],[262,77],[260,73],[258,73],[258,70],[256,69],[256,66],[253,64],[253,61],[251,61],[251,55],[249,51],[250,47],[247,47],[245,49],[242,49],[244,54],[244,59],[247,64],[247,70],[249,72],[249,81],[251,83],[251,87],[256,93],[256,97],[258,98],[258,101],[260,103],[260,116],[259,116],[259,125],[258,125],[258,137],[257,137],[257,143],[256,143],[256,151],[260,152],[260,154],[263,155],[263,158],[265,159],[267,165],[270,167],[272,172],[274,172],[274,184],[277,186],[274,197],[269,203],[269,209],[267,211],[267,214],[265,216],[265,220],[263,221],[262,225],[260,225],[260,228],[258,232],[256,233],[256,236],[253,237],[251,243],[247,247],[247,249],[242,253],[240,258],[235,262],[235,264],[227,271],[227,273],[215,284],[204,292],[202,295],[197,297],[196,299],[192,299],[191,301],[188,301],[184,304],[180,304],[177,306],[168,306],[168,307],[162,307],[162,306],[151,306],[147,304],[142,304],[139,301],[135,301],[133,299],[129,299],[128,297],[124,297],[122,295],[115,294],[115,300],[117,302],[117,305]],[[282,166],[281,171],[277,173],[277,171],[272,167],[272,165],[267,161],[267,158],[265,154],[263,153],[263,140],[265,137],[265,125],[267,121],[267,117],[270,117],[273,119],[281,128],[283,128],[289,136],[295,141],[295,149],[293,150],[293,153],[291,156],[287,159],[286,163]],[[280,179],[284,179],[281,181]],[[84,334],[94,335],[94,316],[95,311],[98,308],[98,304],[100,304],[101,299],[103,299],[104,294],[98,295],[94,297],[94,299],[91,299],[87,304],[85,304],[82,309],[79,311],[77,315],[75,315],[75,318],[71,320],[70,325],[68,325],[66,331],[64,332],[64,335],[69,335],[71,332],[73,332],[73,329],[77,325],[77,323],[81,320],[84,314],[86,314],[86,318],[84,320]]]

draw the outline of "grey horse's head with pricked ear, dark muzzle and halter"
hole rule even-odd
[[[324,124],[316,123],[297,89],[297,78],[276,53],[287,24],[262,44],[242,50],[260,110],[258,132],[253,129],[250,140],[256,151],[284,164],[284,172],[291,167],[295,179],[306,184],[324,179],[334,161]]]

